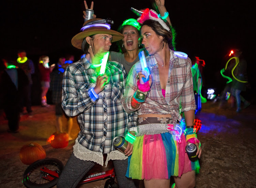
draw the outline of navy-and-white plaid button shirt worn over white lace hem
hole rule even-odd
[[[105,73],[109,82],[95,99],[88,91],[95,87],[98,75],[88,59],[69,65],[63,75],[62,108],[67,116],[78,115],[78,142],[82,146],[110,153],[115,150],[113,139],[136,126],[137,113],[127,114],[121,104],[127,77],[123,65],[108,61]]]

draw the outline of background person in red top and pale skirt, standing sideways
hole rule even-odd
[[[39,71],[40,71],[40,81],[41,81],[41,105],[49,106],[47,104],[46,94],[50,87],[50,73],[55,67],[55,64],[49,66],[49,57],[42,55],[39,57]]]

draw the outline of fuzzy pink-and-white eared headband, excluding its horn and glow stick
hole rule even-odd
[[[165,16],[164,16],[165,17]],[[141,16],[137,19],[137,21],[139,23],[144,23],[144,21],[151,19],[151,20],[155,20],[158,21],[162,27],[164,29],[166,29],[167,31],[170,31],[170,28],[165,24],[164,20],[162,20],[161,18],[158,17],[157,13],[154,10],[149,10],[149,8],[147,8],[142,14]]]

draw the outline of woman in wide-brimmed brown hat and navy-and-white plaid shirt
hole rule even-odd
[[[119,187],[135,188],[133,181],[125,177],[131,144],[125,155],[113,145],[116,136],[125,136],[136,126],[135,114],[127,114],[121,105],[127,73],[122,64],[110,61],[105,73],[100,73],[101,59],[109,51],[111,41],[123,38],[121,33],[110,29],[110,23],[110,19],[90,19],[72,38],[72,45],[82,49],[86,56],[64,72],[62,108],[67,116],[78,116],[81,131],[60,175],[59,188],[76,187],[95,163],[103,165],[103,154],[107,154],[105,165],[113,160]]]

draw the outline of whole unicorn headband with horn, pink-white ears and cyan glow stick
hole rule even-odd
[[[136,10],[135,8],[132,8],[132,11],[133,12],[136,12],[136,14],[138,15],[138,16],[140,16],[138,19],[137,19],[137,21],[139,22],[139,23],[144,23],[144,21],[146,21],[146,20],[148,20],[148,19],[151,19],[151,20],[155,20],[155,21],[158,21],[161,25],[162,25],[162,27],[164,28],[164,29],[166,29],[167,31],[170,31],[170,28],[165,24],[165,22],[164,22],[164,20],[163,19],[165,19],[165,18],[167,18],[167,16],[169,15],[168,13],[165,13],[165,16],[164,17],[162,17],[162,16],[160,16],[160,14],[159,15],[157,15],[157,13],[154,11],[154,10],[152,10],[152,9],[150,9],[149,10],[149,8],[147,8],[145,11],[138,11],[138,10]]]

